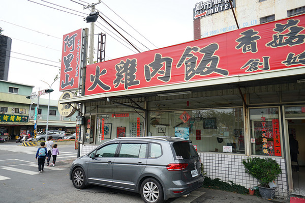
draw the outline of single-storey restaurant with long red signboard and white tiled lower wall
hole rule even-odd
[[[305,165],[304,43],[305,15],[297,15],[87,65],[83,96],[59,103],[82,106],[80,155],[121,136],[182,137],[206,176],[247,188],[258,182],[242,159],[274,158],[276,195],[285,197],[301,182],[289,134]]]

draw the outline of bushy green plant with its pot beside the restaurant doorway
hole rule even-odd
[[[280,164],[274,159],[259,157],[243,159],[242,164],[246,172],[260,182],[258,189],[261,196],[265,199],[275,197],[276,188],[270,188],[269,185],[282,173]]]

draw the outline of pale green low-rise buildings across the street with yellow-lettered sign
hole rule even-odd
[[[0,80],[0,134],[15,138],[20,133],[34,132],[34,109],[38,98],[27,99],[34,86]],[[46,130],[48,99],[39,99],[37,115],[38,132]],[[64,130],[75,132],[76,114],[70,118],[59,115],[57,100],[50,100],[49,130]],[[31,111],[30,111],[31,109]]]

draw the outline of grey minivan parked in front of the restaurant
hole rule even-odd
[[[198,153],[177,137],[119,137],[77,158],[70,168],[74,187],[89,184],[138,192],[144,202],[163,202],[201,187]]]

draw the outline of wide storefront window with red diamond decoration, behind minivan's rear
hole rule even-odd
[[[192,140],[197,151],[245,153],[242,108],[149,113],[150,136]]]

